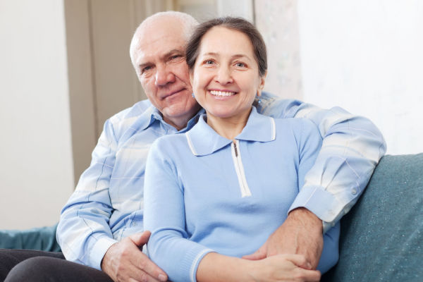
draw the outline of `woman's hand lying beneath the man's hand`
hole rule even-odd
[[[253,263],[247,270],[252,281],[320,281],[320,271],[300,267],[307,264],[303,255],[275,255]]]

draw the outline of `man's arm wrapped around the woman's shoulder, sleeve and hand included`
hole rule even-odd
[[[285,223],[247,258],[298,253],[314,268],[323,247],[322,227],[326,232],[357,202],[386,152],[384,138],[367,118],[341,108],[319,109],[264,92],[257,110],[278,118],[308,118],[319,128],[323,144]]]

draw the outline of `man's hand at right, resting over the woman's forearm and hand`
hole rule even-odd
[[[305,268],[316,269],[323,250],[321,220],[308,209],[294,209],[286,221],[269,236],[254,254],[243,259],[264,259],[273,255],[298,254],[307,259]]]

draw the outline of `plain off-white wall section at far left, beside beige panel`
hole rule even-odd
[[[58,221],[73,190],[63,1],[0,0],[0,228]]]

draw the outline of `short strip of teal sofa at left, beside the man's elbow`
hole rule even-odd
[[[0,230],[0,248],[60,252],[56,241],[56,228],[57,224],[24,231]]]

